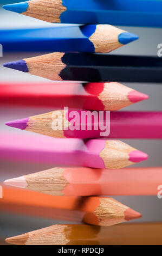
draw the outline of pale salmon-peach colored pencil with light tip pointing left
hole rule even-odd
[[[91,169],[56,167],[4,184],[53,196],[157,196],[162,167]]]

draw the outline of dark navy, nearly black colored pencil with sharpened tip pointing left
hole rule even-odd
[[[55,52],[4,66],[54,81],[162,82],[159,57]]]

